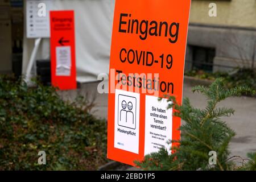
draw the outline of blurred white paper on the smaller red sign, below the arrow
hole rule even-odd
[[[71,47],[56,47],[56,76],[71,75]]]

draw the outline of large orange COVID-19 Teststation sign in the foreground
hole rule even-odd
[[[181,119],[166,95],[181,104],[191,1],[115,1],[110,55],[108,158],[135,160],[179,140]],[[159,101],[158,98],[163,100]]]

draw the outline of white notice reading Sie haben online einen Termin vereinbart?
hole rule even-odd
[[[146,96],[145,103],[145,147],[144,155],[166,148],[171,154],[172,109],[167,110],[167,99],[158,101],[158,97]]]

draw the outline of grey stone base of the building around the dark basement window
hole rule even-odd
[[[250,68],[253,60],[256,63],[255,43],[254,30],[191,24],[188,31],[186,60],[193,61],[191,46],[210,47],[216,49],[213,60],[214,72],[229,71],[235,67]],[[192,69],[192,64],[186,63],[185,69]]]

